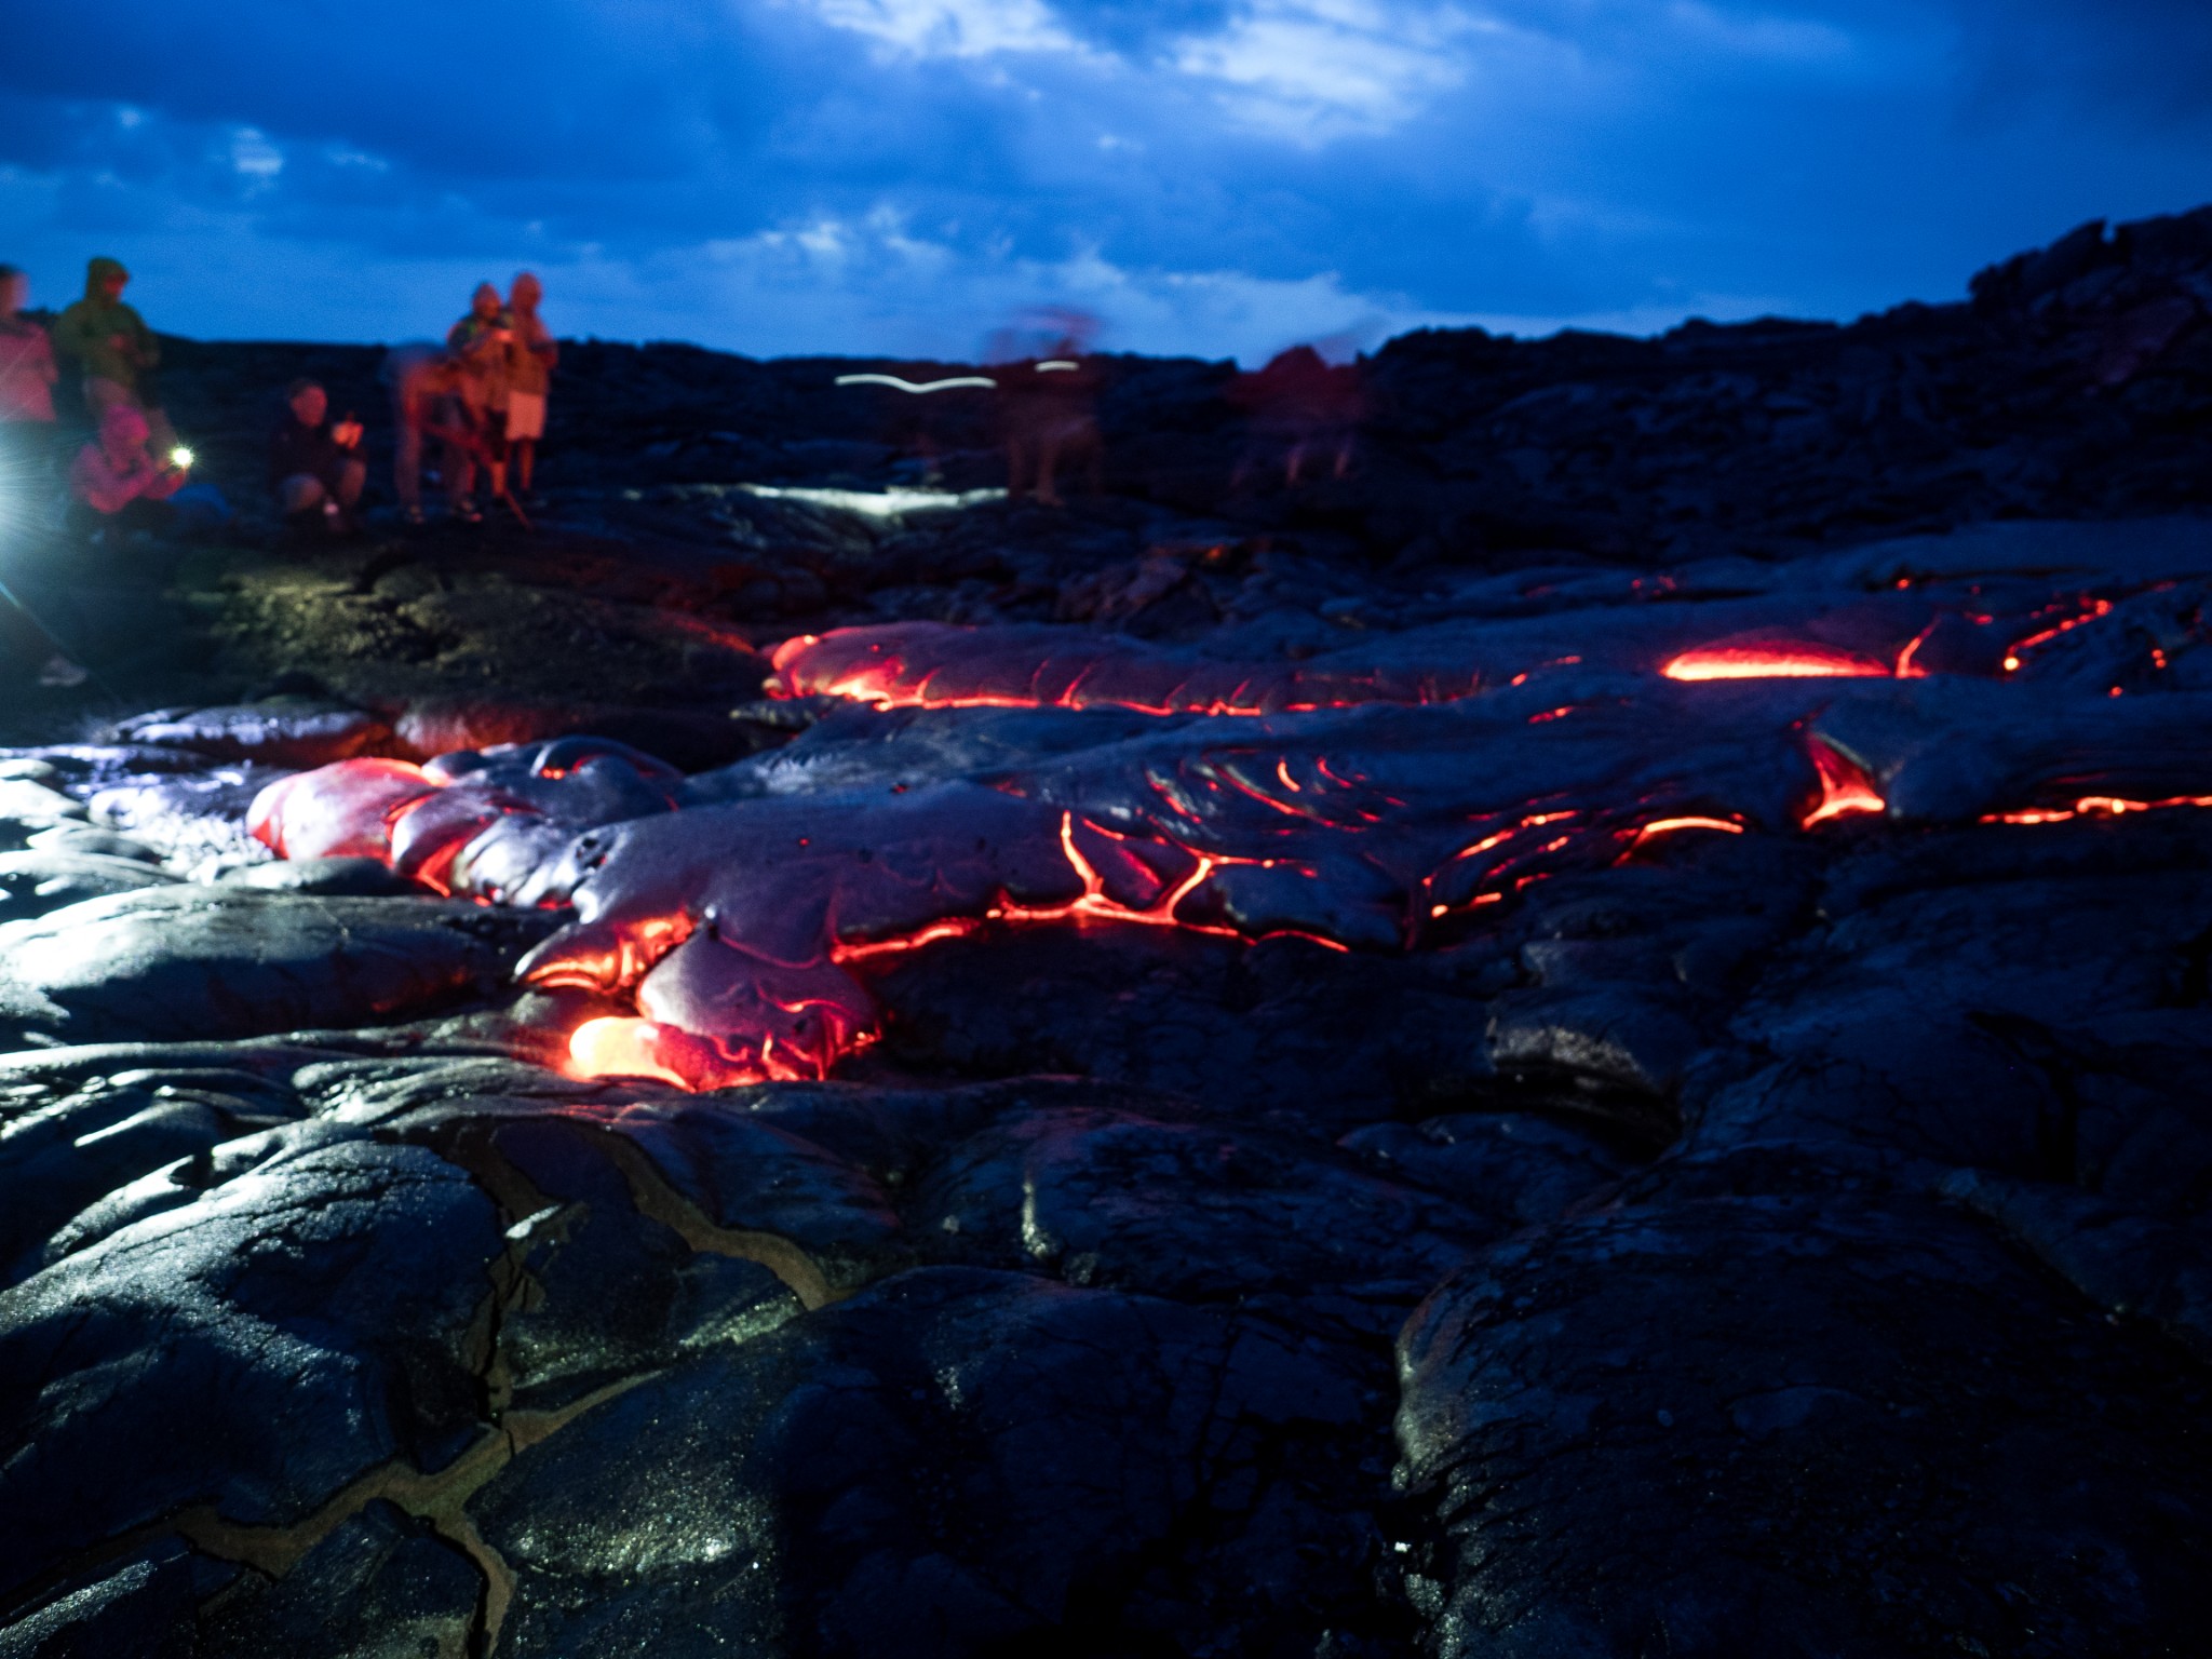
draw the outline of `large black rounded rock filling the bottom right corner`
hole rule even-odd
[[[2181,1655],[2212,1617],[2203,1376],[1927,1201],[1542,1232],[1400,1369],[1440,1655]]]

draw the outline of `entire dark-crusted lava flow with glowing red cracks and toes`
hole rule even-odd
[[[2139,586],[2163,606],[2190,602],[2172,577]],[[1924,580],[1874,602],[1843,588],[1832,562],[1763,606],[1712,606],[1719,617],[1668,604],[1548,617],[1504,639],[1400,635],[1298,681],[1298,695],[1334,686],[1336,706],[1281,714],[1261,710],[1285,701],[1287,681],[1263,688],[1259,668],[1168,650],[1117,659],[1077,630],[849,630],[779,650],[790,688],[1035,728],[1079,723],[1071,688],[1108,664],[1121,679],[1108,695],[1099,677],[1102,703],[1161,719],[960,783],[860,770],[841,794],[774,801],[723,799],[759,787],[759,768],[677,783],[639,757],[573,743],[431,772],[338,761],[270,785],[254,827],[281,852],[383,854],[456,891],[573,902],[577,920],[531,951],[524,978],[633,995],[639,1015],[580,1033],[577,1064],[726,1084],[825,1075],[876,1035],[865,962],[987,925],[1141,922],[1418,949],[1533,880],[1632,858],[1670,834],[1816,830],[1863,812],[2046,821],[2212,799],[2197,695],[2115,699],[2022,659],[2033,653],[2022,628],[2053,611],[2108,622],[2112,599],[2015,588],[2000,628],[1991,613],[1964,615],[1995,604],[1986,580]],[[1736,628],[1721,646],[1674,648],[1747,611],[1783,622],[1750,635],[1756,646]],[[1995,628],[2004,644],[1918,661],[1944,622]],[[1834,644],[1882,628],[1896,670]],[[1582,650],[1559,650],[1566,639]],[[836,650],[821,661],[825,646]],[[1378,688],[1433,686],[1433,672],[1394,664],[1436,661],[1447,646],[1531,666],[1480,697],[1369,701]],[[1995,675],[1951,672],[1960,657]],[[1225,710],[1221,697],[1252,706]],[[1177,710],[1188,719],[1170,719]],[[571,843],[575,825],[597,827]]]

